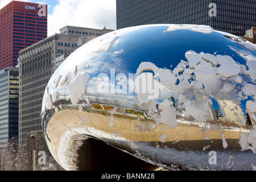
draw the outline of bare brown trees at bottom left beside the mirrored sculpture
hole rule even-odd
[[[27,134],[26,140],[20,145],[17,138],[0,144],[0,171],[32,171],[33,151],[36,154],[36,170],[64,170],[48,151],[42,133],[31,132]]]

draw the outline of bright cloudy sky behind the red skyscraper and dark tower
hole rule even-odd
[[[12,0],[0,0],[0,9]],[[48,36],[78,26],[116,30],[115,0],[22,0],[48,5]]]

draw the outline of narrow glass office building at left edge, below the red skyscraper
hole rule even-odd
[[[18,137],[19,68],[0,71],[0,143]]]

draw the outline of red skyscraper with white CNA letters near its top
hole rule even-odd
[[[0,70],[15,67],[20,50],[47,38],[47,5],[11,1],[0,10]]]

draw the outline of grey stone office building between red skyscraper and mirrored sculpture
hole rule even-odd
[[[76,48],[82,39],[88,42],[110,31],[113,30],[66,26],[60,29],[60,34],[51,35],[19,52],[20,143],[28,132],[42,131],[43,95],[52,73],[64,60],[64,53]]]

